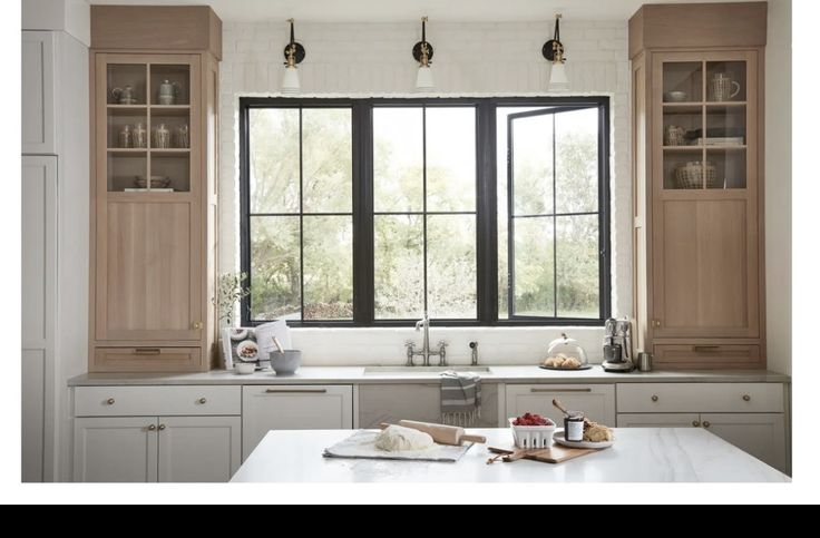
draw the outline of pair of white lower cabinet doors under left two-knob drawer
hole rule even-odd
[[[240,468],[240,417],[75,419],[76,482],[227,482]]]

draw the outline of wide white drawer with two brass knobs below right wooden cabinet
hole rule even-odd
[[[780,383],[618,383],[618,413],[783,412]]]

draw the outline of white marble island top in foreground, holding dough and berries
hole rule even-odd
[[[496,447],[511,446],[506,428],[472,429]],[[270,431],[232,482],[789,482],[780,471],[702,428],[615,429],[615,444],[551,464],[519,460],[487,464],[475,444],[456,463],[323,458],[351,430]]]

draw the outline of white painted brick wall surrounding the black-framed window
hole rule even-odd
[[[282,50],[289,28],[282,22],[224,25],[221,94],[219,266],[240,265],[238,99],[277,96]],[[428,25],[435,46],[437,96],[535,96],[546,91],[549,68],[540,50],[553,31],[549,20]],[[418,22],[302,22],[296,39],[308,56],[300,65],[302,91],[311,97],[418,96],[410,50],[420,39]],[[565,21],[567,74],[573,95],[612,98],[613,313],[632,312],[632,218],[629,177],[629,62],[626,21]],[[590,360],[601,360],[601,329],[574,329]],[[482,359],[528,363],[544,354],[559,329],[433,329],[450,342],[455,362],[467,362],[467,342],[478,340]],[[294,345],[308,364],[403,362],[410,330],[302,329]]]

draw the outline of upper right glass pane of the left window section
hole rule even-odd
[[[350,213],[352,131],[349,108],[302,110],[302,188],[305,213]]]

